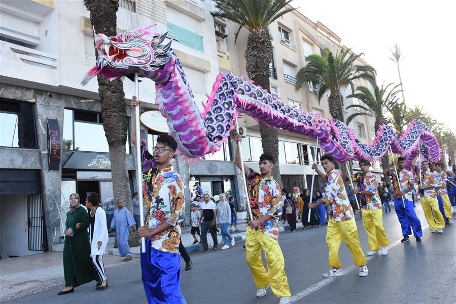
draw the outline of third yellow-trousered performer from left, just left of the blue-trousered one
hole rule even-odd
[[[367,256],[374,254],[387,255],[390,240],[385,234],[383,228],[381,209],[381,200],[378,196],[378,179],[369,168],[371,163],[367,159],[359,161],[362,173],[356,173],[351,176],[352,180],[357,183],[358,190],[354,189],[354,194],[359,194],[360,207],[363,209],[363,226],[366,230],[367,239],[369,240],[370,251]],[[346,166],[342,166],[342,177],[347,180]]]

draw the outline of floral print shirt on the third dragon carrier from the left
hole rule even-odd
[[[342,177],[332,170],[326,175],[326,192],[322,201],[329,205],[329,216],[334,221],[349,221],[353,219],[353,209],[348,201]]]

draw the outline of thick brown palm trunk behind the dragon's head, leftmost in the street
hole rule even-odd
[[[103,33],[108,37],[117,34],[118,0],[85,0],[84,4],[90,11],[90,22],[96,33]],[[98,58],[96,51],[95,55]],[[104,134],[108,140],[111,159],[114,200],[122,199],[124,206],[133,213],[125,151],[128,119],[123,82],[119,78],[111,81],[102,75],[98,75],[97,80]],[[137,238],[137,233],[130,232],[129,244],[137,244]]]

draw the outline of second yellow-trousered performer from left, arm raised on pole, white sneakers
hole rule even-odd
[[[312,169],[326,181],[327,188],[325,197],[319,202],[309,203],[309,208],[315,208],[321,204],[327,204],[329,208],[329,222],[326,233],[326,242],[329,247],[329,267],[330,270],[324,273],[324,277],[342,276],[342,265],[339,260],[339,247],[343,239],[345,245],[352,252],[355,265],[359,266],[358,275],[365,277],[368,275],[367,260],[358,238],[355,216],[352,206],[348,201],[345,186],[339,173],[334,171],[334,157],[325,154],[320,158],[326,174],[321,172],[317,164],[312,165]]]

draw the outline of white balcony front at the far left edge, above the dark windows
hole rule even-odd
[[[5,78],[19,79],[11,84],[20,85],[21,82],[32,81],[57,85],[57,57],[55,55],[6,41],[0,41],[0,53],[2,54],[0,75]]]

